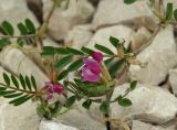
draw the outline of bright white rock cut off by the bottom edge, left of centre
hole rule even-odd
[[[76,128],[65,126],[54,121],[42,121],[39,130],[79,130]]]

